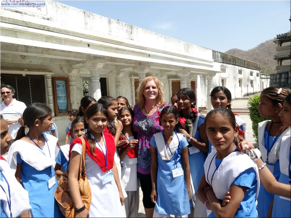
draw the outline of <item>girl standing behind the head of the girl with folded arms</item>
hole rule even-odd
[[[224,86],[215,87],[211,93],[211,104],[215,108],[228,108],[231,110],[231,92]],[[239,126],[239,139],[240,141],[246,140],[246,122],[243,121],[238,114],[235,114],[235,122]]]

